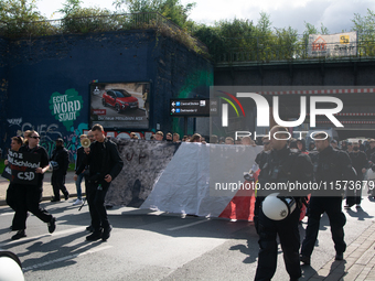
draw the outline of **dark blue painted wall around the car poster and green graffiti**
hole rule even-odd
[[[77,137],[88,129],[93,80],[151,82],[150,127],[144,131],[156,131],[157,123],[164,132],[182,131],[180,120],[170,117],[169,99],[181,95],[208,97],[206,85],[213,82],[208,61],[153,31],[2,40],[0,52],[2,46],[9,50],[2,56],[8,65],[0,65],[0,77],[8,82],[8,99],[0,91],[0,106],[7,108],[7,116],[1,116],[2,149],[9,148],[12,136],[35,129],[49,152],[57,137],[64,138],[73,159]],[[60,122],[50,108],[52,95],[67,90],[82,104],[71,125]]]

